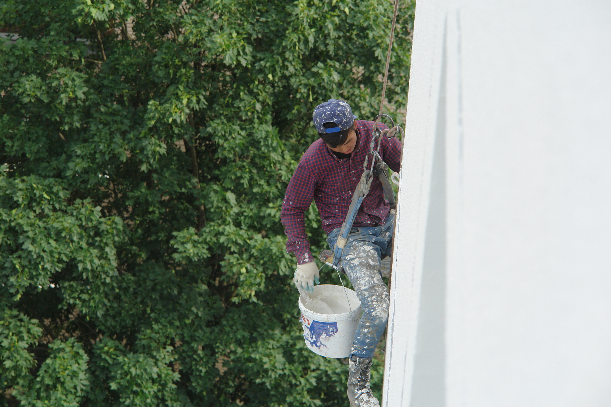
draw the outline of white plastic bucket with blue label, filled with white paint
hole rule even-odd
[[[344,291],[342,286],[321,284],[314,287],[310,298],[315,300],[308,301],[300,295],[298,301],[305,345],[327,358],[348,358],[360,319],[356,292],[348,288]]]

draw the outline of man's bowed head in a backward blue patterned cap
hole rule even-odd
[[[312,114],[318,136],[333,151],[345,154],[351,153],[356,146],[355,119],[350,105],[337,99],[319,104]]]

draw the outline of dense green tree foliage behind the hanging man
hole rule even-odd
[[[279,213],[313,107],[375,116],[391,16],[378,0],[0,2],[0,404],[347,405],[345,364],[302,340]],[[315,251],[317,221],[312,206]]]

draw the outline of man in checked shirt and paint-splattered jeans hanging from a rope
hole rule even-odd
[[[320,139],[301,157],[288,184],[281,214],[287,251],[297,257],[293,281],[309,292],[320,276],[305,234],[304,212],[314,200],[333,250],[373,137],[373,121],[356,120],[345,101],[331,99],[316,106],[312,119]],[[379,128],[387,127],[379,124]],[[399,140],[382,137],[379,154],[393,171],[399,170],[400,151]],[[379,406],[371,394],[369,378],[371,357],[388,319],[389,295],[380,275],[380,261],[391,254],[394,215],[389,214],[382,184],[374,178],[342,254],[342,265],[363,311],[349,361],[348,398],[352,407]]]

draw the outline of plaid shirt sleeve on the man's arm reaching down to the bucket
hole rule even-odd
[[[297,264],[314,261],[305,234],[304,212],[312,204],[315,189],[315,178],[305,165],[299,164],[288,182],[280,212],[280,220],[288,237],[287,253],[295,253]]]

